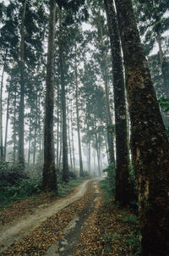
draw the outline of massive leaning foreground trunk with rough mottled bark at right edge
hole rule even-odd
[[[139,193],[142,255],[169,255],[169,143],[130,0],[115,0]]]

